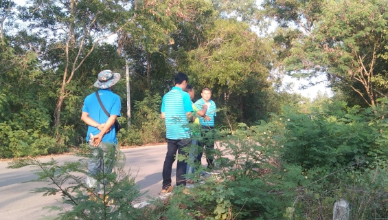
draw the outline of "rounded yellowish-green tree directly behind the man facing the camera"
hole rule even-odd
[[[264,94],[273,91],[268,80],[274,58],[271,42],[260,39],[244,22],[222,19],[203,36],[205,40],[187,58],[187,71],[196,85],[210,87],[219,106],[229,105],[239,119],[244,112],[252,113],[247,109],[265,115]]]

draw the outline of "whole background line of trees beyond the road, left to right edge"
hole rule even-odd
[[[150,135],[161,126],[147,122],[157,118],[160,98],[179,71],[189,75],[196,98],[201,88],[212,89],[220,107],[216,124],[231,128],[268,120],[285,104],[308,102],[281,89],[282,74],[323,74],[335,96],[351,105],[374,106],[388,92],[386,0],[268,0],[261,5],[67,0],[20,6],[1,1],[1,9],[0,122],[5,146],[12,145],[7,137],[15,131],[55,140],[47,149],[77,146],[86,129],[79,120],[82,101],[95,90],[97,74],[111,69],[124,76],[126,65],[130,106],[137,115],[119,119],[133,121],[120,134],[126,144],[137,135],[145,138],[142,143],[150,141],[146,137],[163,136]],[[279,25],[272,34],[263,34],[269,21]],[[115,92],[122,97],[125,115],[125,80]],[[32,123],[36,120],[41,123]],[[23,135],[16,138],[23,143],[12,146],[30,148],[32,142]],[[10,151],[7,155],[12,157]]]

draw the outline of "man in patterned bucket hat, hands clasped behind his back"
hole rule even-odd
[[[97,175],[99,172],[112,172],[114,163],[112,158],[117,144],[114,123],[116,118],[120,116],[121,109],[120,97],[113,93],[113,86],[119,79],[120,74],[113,73],[111,70],[103,70],[98,74],[98,80],[93,85],[99,88],[98,96],[109,115],[102,109],[95,92],[84,99],[81,120],[88,124],[87,140],[89,146],[102,148],[103,158],[111,159],[111,161],[103,161],[102,157],[90,159],[89,173],[93,175]],[[113,148],[109,146],[113,146]],[[98,151],[92,152],[94,155],[98,155]],[[111,155],[105,157],[108,153]],[[93,177],[88,176],[86,181],[87,186],[95,190],[95,194],[91,192],[91,195],[102,195],[100,184]]]

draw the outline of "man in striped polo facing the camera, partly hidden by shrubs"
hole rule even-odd
[[[204,118],[200,118],[199,120],[201,127],[203,129],[203,136],[207,136],[206,133],[212,132],[211,130],[214,129],[214,117],[216,116],[216,103],[210,100],[210,98],[212,98],[212,90],[210,90],[209,87],[204,87],[202,89],[201,96],[202,98],[196,101],[194,104],[196,105],[196,107],[198,107],[198,109],[202,109],[204,104],[207,105],[206,115],[204,116]],[[206,151],[207,148],[209,148],[210,151],[214,149],[214,140],[212,140],[211,142],[209,142],[207,138],[205,138],[205,140],[207,143],[206,144],[201,143],[201,145],[205,147],[205,152],[207,152],[206,154],[207,168],[209,168],[209,170],[214,170],[213,157],[212,155],[209,155],[210,154],[209,151]],[[202,154],[203,153],[198,154],[197,159],[199,162],[201,162]]]

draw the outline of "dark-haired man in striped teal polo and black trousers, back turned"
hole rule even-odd
[[[189,119],[192,120],[192,101],[186,89],[189,78],[179,72],[174,76],[175,86],[163,96],[161,103],[161,118],[166,122],[167,153],[163,164],[163,185],[161,193],[171,192],[172,164],[175,161],[176,152],[182,151],[184,146],[191,143],[190,129],[187,126]],[[186,162],[178,161],[176,164],[176,186],[186,185],[183,175],[186,173]]]

